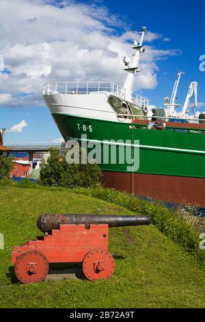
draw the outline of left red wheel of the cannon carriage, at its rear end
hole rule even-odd
[[[42,282],[49,273],[49,262],[40,251],[25,251],[16,258],[15,274],[23,284]]]

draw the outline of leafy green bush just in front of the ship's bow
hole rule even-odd
[[[52,148],[51,156],[40,170],[39,183],[43,186],[62,186],[66,188],[96,186],[101,171],[98,164],[68,164],[66,156]]]

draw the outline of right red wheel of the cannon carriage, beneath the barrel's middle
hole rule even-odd
[[[115,270],[115,260],[109,251],[94,249],[83,260],[83,273],[87,280],[108,280]]]

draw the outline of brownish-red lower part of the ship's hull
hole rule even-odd
[[[205,178],[104,172],[103,183],[126,193],[205,207]]]

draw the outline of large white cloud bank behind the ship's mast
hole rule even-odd
[[[0,54],[5,70],[10,71],[0,73],[0,106],[43,106],[45,82],[123,84],[126,78],[122,58],[132,53],[133,33],[118,35],[116,26],[124,27],[124,21],[99,4],[62,1],[60,8],[51,2],[0,1]],[[147,32],[145,40],[161,38],[161,34]],[[157,61],[179,53],[147,45],[135,89],[156,88]]]

